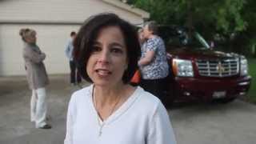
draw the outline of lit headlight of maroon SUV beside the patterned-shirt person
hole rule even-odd
[[[194,77],[192,62],[184,59],[173,59],[173,70],[176,76]]]

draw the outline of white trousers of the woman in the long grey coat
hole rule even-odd
[[[35,122],[37,128],[46,125],[47,103],[45,87],[32,90],[30,110],[30,120]]]

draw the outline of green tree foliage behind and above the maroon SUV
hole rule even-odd
[[[222,47],[242,53],[256,44],[255,0],[130,0],[130,4],[150,12],[159,24],[195,28],[206,39],[216,35]],[[250,49],[247,49],[250,51]]]

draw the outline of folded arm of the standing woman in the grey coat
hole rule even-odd
[[[24,50],[24,57],[30,59],[31,62],[39,63],[46,58],[46,54],[37,53],[29,47],[26,47]]]

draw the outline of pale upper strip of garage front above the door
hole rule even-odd
[[[142,17],[101,0],[2,0],[0,22],[83,22],[92,14],[114,12],[132,23]]]

